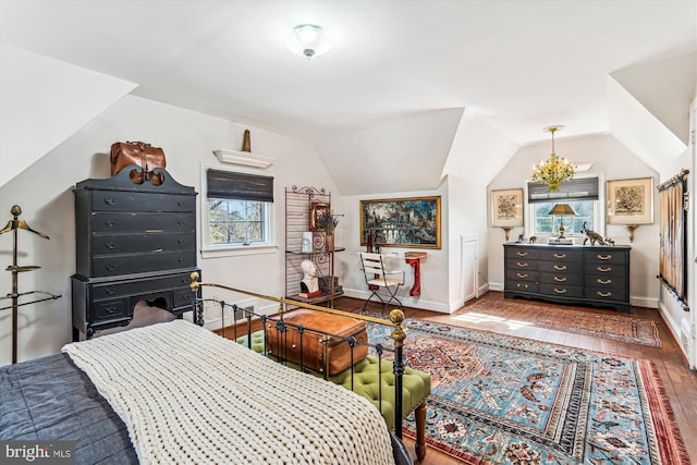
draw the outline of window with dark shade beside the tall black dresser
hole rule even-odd
[[[207,168],[205,183],[205,250],[271,245],[272,176]]]

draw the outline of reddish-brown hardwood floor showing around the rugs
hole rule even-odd
[[[481,299],[502,299],[503,293],[488,292]],[[480,330],[516,335],[519,338],[534,339],[536,341],[550,342],[554,344],[571,345],[589,351],[606,352],[624,357],[650,359],[656,364],[657,370],[663,382],[665,394],[668,395],[675,420],[680,427],[681,435],[685,442],[687,453],[693,463],[697,463],[697,372],[692,371],[687,367],[687,362],[682,355],[677,346],[677,342],[663,322],[659,311],[652,308],[632,307],[631,314],[638,318],[645,318],[657,322],[659,329],[662,347],[653,348],[644,345],[617,342],[602,338],[590,335],[574,334],[570,332],[557,331],[545,328],[536,328],[533,326],[510,327],[502,322],[485,322],[472,323],[462,317],[467,311],[467,307],[472,306],[476,301],[470,301],[462,309],[453,315],[443,315],[436,311],[421,310],[416,308],[405,308],[405,315],[408,318],[423,318],[431,321],[443,322],[462,327],[469,327]],[[536,301],[524,301],[526,303],[536,303],[540,306],[554,307],[557,304],[537,303]],[[334,301],[334,307],[339,309],[354,309],[362,306],[363,301],[350,297],[341,297]],[[614,310],[600,310],[590,307],[565,306],[574,308],[578,311],[592,311],[599,314],[617,315]],[[370,307],[369,307],[370,308]],[[375,307],[379,310],[379,307]],[[627,314],[623,314],[627,315]],[[413,451],[413,442],[405,441],[409,450]],[[458,461],[449,455],[439,453],[433,449],[429,449],[424,462],[416,462],[429,465],[437,464],[454,464]]]

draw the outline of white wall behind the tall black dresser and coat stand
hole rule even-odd
[[[195,186],[200,198],[201,163],[218,163],[213,149],[239,149],[242,133],[247,127],[252,132],[254,152],[276,158],[265,172],[272,173],[277,180],[279,250],[262,255],[199,258],[198,265],[205,281],[230,283],[276,296],[283,294],[285,186],[316,185],[335,192],[314,148],[261,129],[127,96],[0,188],[0,212],[10,219],[11,206],[19,204],[24,210],[21,218],[50,236],[50,241],[28,233],[19,237],[19,264],[41,266],[37,271],[20,276],[20,292],[41,290],[62,295],[58,301],[20,307],[19,360],[57,353],[71,340],[70,277],[75,272],[72,188],[88,178],[110,176],[108,154],[111,144],[145,140],[162,147],[170,174],[181,184]],[[2,268],[12,262],[11,236],[0,235]],[[3,295],[11,291],[10,281],[8,276],[2,278],[0,293]],[[0,313],[0,365],[11,362],[10,315],[10,310]]]

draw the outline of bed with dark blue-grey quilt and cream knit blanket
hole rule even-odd
[[[412,462],[365,399],[181,319],[0,368],[0,413],[84,464]]]

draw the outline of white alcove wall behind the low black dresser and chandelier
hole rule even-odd
[[[580,163],[592,162],[588,173],[604,176],[606,181],[633,178],[653,178],[658,184],[658,173],[636,158],[626,147],[610,135],[557,139],[555,150],[559,156]],[[533,164],[540,159],[549,158],[550,144],[536,144],[523,147],[489,184],[489,192],[503,188],[523,188],[530,181]],[[600,186],[604,191],[604,185]],[[653,196],[653,217],[658,220],[658,196]],[[527,211],[525,221],[529,220]],[[511,231],[511,241],[523,232],[522,228]],[[622,225],[607,225],[604,235],[612,237],[617,245],[631,245],[629,294],[632,305],[658,307],[658,224],[640,225],[635,230],[634,242]],[[500,228],[489,229],[489,281],[492,289],[503,289],[503,231]],[[527,234],[526,234],[527,236]]]

